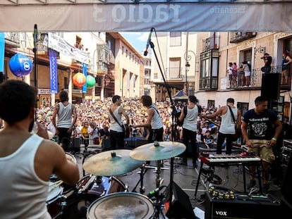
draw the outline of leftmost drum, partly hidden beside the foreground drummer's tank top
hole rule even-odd
[[[63,188],[58,182],[51,182],[49,184],[49,194],[47,196],[47,209],[51,218],[56,218],[61,213],[61,195]]]

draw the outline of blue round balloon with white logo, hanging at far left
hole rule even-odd
[[[9,68],[16,77],[23,77],[32,71],[32,61],[28,56],[15,54],[9,61]]]

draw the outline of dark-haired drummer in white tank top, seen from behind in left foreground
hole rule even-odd
[[[73,186],[79,180],[76,164],[48,139],[47,129],[35,118],[37,93],[21,80],[0,85],[0,218],[51,218],[46,206],[49,181],[54,173]]]

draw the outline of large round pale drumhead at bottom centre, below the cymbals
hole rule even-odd
[[[148,219],[153,214],[154,205],[147,196],[135,192],[116,192],[92,202],[87,210],[87,219]]]

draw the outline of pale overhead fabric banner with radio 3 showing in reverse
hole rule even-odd
[[[292,32],[290,2],[137,2],[2,5],[0,32]]]

